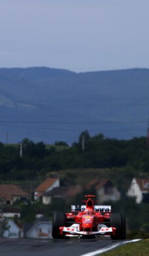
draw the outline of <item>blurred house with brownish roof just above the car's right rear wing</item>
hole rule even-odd
[[[87,188],[95,189],[99,203],[120,199],[120,192],[109,179],[93,179]]]

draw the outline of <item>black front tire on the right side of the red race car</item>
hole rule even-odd
[[[121,213],[111,213],[110,226],[117,228],[115,235],[111,235],[112,240],[125,240],[126,238],[126,218]]]

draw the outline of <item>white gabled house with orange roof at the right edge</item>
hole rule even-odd
[[[149,193],[149,179],[134,178],[128,189],[127,195],[136,197],[136,203],[141,203]]]

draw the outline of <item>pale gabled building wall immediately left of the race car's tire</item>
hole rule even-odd
[[[39,222],[32,227],[26,235],[28,238],[51,238],[52,237],[52,223]]]

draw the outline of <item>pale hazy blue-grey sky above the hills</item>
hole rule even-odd
[[[148,0],[0,0],[0,67],[149,68]]]

